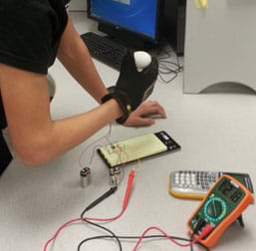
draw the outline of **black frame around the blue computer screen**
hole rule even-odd
[[[111,22],[108,22],[106,20],[103,20],[103,19],[100,19],[100,18],[97,18],[97,17],[93,16],[92,13],[91,13],[91,1],[92,0],[87,0],[87,16],[88,16],[88,18],[93,19],[93,20],[95,20],[99,23],[103,23],[104,25],[108,25],[112,29],[115,29],[116,31],[126,32],[129,35],[134,35],[137,38],[143,39],[144,41],[148,41],[148,42],[151,42],[151,43],[158,43],[159,42],[160,1],[161,0],[155,0],[156,1],[156,16],[155,16],[155,19],[156,19],[155,20],[155,25],[156,25],[156,27],[155,27],[155,37],[154,38],[152,38],[150,36],[146,36],[143,33],[139,33],[139,32],[129,30],[126,27],[115,25]]]

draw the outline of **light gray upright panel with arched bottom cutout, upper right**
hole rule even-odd
[[[223,82],[256,91],[255,13],[255,0],[208,0],[204,10],[187,1],[185,93]]]

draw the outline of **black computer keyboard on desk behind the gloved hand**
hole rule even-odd
[[[127,54],[127,47],[93,32],[82,34],[81,38],[86,43],[92,57],[120,70],[123,57]]]

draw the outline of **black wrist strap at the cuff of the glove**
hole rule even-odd
[[[110,101],[111,99],[115,99],[123,112],[123,116],[117,120],[119,124],[124,124],[128,120],[128,116],[131,112],[130,108],[130,102],[128,100],[128,96],[125,93],[122,92],[114,92],[110,93],[102,98],[102,103],[106,103]]]

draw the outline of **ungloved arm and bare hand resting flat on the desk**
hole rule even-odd
[[[95,68],[84,41],[76,31],[71,18],[69,18],[68,25],[63,34],[58,58],[81,86],[100,104],[101,98],[104,97],[108,91]],[[154,119],[150,118],[150,116],[166,118],[164,109],[157,102],[145,102],[129,115],[124,125],[153,125]]]

